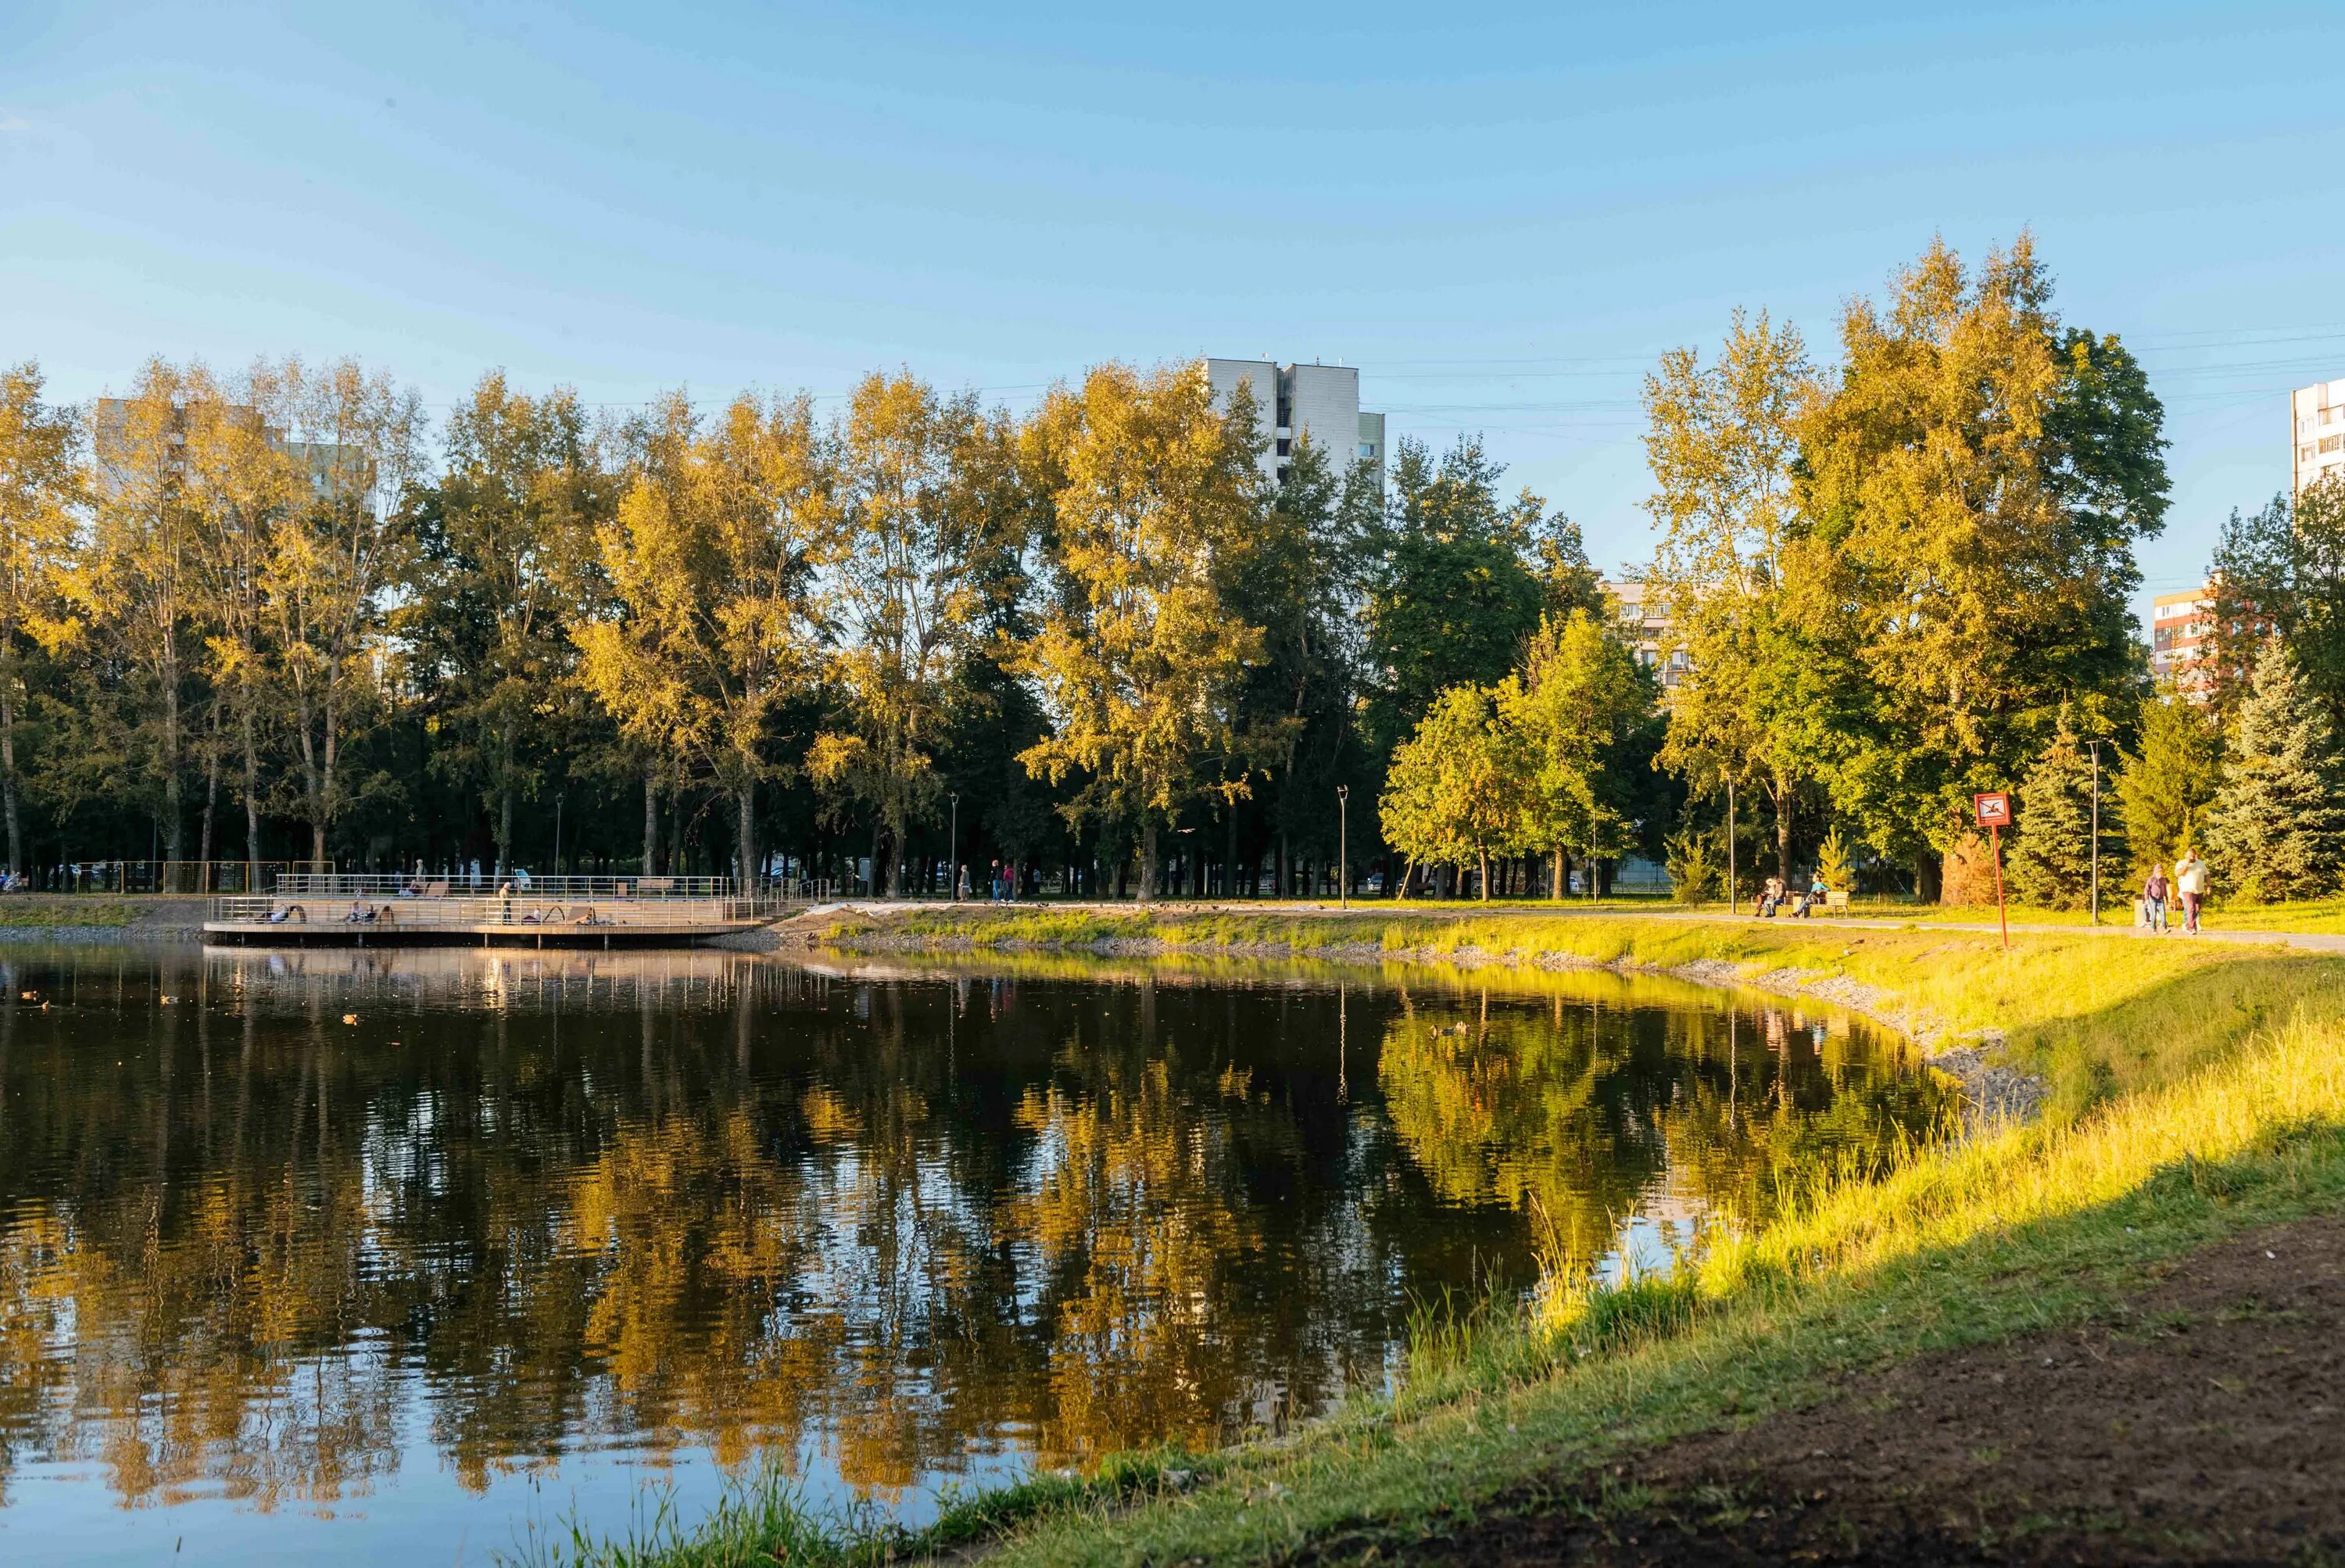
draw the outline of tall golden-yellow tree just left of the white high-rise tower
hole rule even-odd
[[[1243,799],[1278,743],[1238,722],[1262,628],[1233,614],[1219,572],[1262,516],[1252,417],[1245,396],[1215,410],[1198,363],[1109,363],[1053,387],[1027,424],[1051,492],[1051,593],[1018,668],[1055,731],[1025,766],[1079,778],[1069,820],[1137,825],[1142,900],[1158,895],[1158,830],[1196,799]]]

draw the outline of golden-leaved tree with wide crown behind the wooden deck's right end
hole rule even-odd
[[[577,628],[579,677],[628,738],[734,797],[736,865],[757,872],[757,785],[776,710],[821,673],[818,577],[840,548],[832,469],[797,398],[743,394],[704,429],[682,391],[635,438],[603,530],[619,614]]]

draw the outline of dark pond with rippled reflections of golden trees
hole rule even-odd
[[[0,1559],[490,1561],[1219,1444],[1946,1113],[1611,973],[0,949]],[[176,1556],[174,1556],[176,1554]]]

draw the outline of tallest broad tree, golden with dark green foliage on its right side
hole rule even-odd
[[[1831,783],[1928,891],[1970,795],[2019,773],[2064,703],[2089,731],[2132,720],[2162,410],[2115,338],[2061,326],[2028,234],[1977,272],[1932,244],[1883,307],[1848,307],[1841,352],[1799,424],[1801,577],[1862,680]]]

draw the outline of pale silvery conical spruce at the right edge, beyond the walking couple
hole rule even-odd
[[[2315,898],[2338,886],[2345,806],[2336,736],[2312,684],[2272,638],[2232,724],[2223,788],[2207,813],[2216,886],[2247,902]]]

